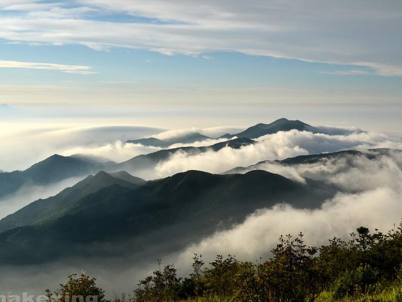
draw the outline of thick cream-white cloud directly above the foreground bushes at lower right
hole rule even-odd
[[[218,232],[202,242],[189,246],[179,259],[191,259],[193,253],[213,259],[228,253],[243,260],[269,257],[280,235],[305,234],[308,245],[320,246],[334,236],[347,239],[360,225],[371,231],[388,231],[402,218],[400,191],[378,188],[360,194],[339,194],[320,209],[295,209],[276,205],[250,215],[244,223]]]

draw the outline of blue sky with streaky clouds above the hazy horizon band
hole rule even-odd
[[[393,103],[398,1],[4,0],[0,103]]]

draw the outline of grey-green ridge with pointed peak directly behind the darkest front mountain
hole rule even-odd
[[[111,185],[117,184],[122,187],[135,189],[144,183],[145,180],[134,177],[124,171],[113,174],[108,174],[103,171],[98,172],[95,176],[90,175],[55,196],[46,199],[38,199],[14,214],[1,219],[0,233],[17,228],[18,226],[43,223],[60,217],[81,198]]]

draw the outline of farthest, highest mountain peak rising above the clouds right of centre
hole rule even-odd
[[[247,128],[246,130],[233,134],[232,137],[247,137],[247,138],[258,138],[263,135],[273,134],[278,131],[289,131],[289,130],[299,130],[299,131],[311,131],[314,133],[320,132],[317,128],[306,124],[299,120],[288,120],[286,118],[280,118],[270,124],[257,124]],[[222,138],[230,137],[230,134],[225,134],[221,136]]]

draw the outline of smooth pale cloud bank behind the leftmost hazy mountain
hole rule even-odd
[[[33,128],[29,124],[16,129],[14,124],[10,124],[0,133],[0,140],[7,142],[0,148],[0,169],[25,170],[53,154],[72,155],[80,149],[92,149],[92,155],[95,155],[99,153],[96,150],[98,147],[102,152],[106,144],[114,144],[116,140],[141,138],[157,131],[162,130],[139,126]],[[140,150],[145,149],[139,148],[138,152]],[[86,154],[91,153],[88,151]]]

